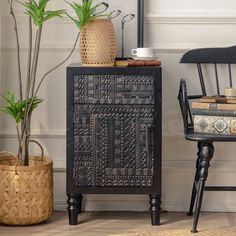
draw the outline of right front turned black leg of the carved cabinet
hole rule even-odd
[[[160,225],[161,195],[150,194],[150,213],[152,225]]]

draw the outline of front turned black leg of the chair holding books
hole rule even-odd
[[[199,171],[198,171],[199,179],[197,182],[197,199],[194,212],[193,228],[191,231],[192,233],[197,232],[197,224],[202,205],[204,187],[208,177],[208,168],[210,167],[210,161],[213,155],[214,155],[214,146],[212,145],[212,143],[204,143],[201,146],[201,151],[199,154]]]

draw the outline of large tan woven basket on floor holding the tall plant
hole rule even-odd
[[[30,157],[29,166],[17,166],[0,157],[0,223],[31,225],[47,220],[53,210],[52,161]]]

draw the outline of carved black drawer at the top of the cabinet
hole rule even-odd
[[[74,103],[154,104],[152,75],[75,75]]]

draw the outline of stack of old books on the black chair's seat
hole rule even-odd
[[[236,135],[236,99],[204,97],[192,102],[194,132]]]

